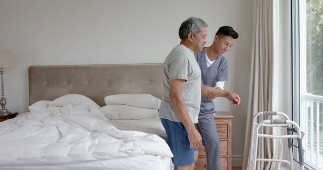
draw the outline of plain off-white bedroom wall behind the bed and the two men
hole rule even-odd
[[[0,48],[12,49],[17,65],[5,69],[6,108],[28,111],[30,65],[162,63],[180,41],[180,24],[196,16],[209,24],[206,46],[224,25],[232,26],[240,35],[225,56],[230,71],[226,89],[238,93],[242,102],[232,108],[225,99],[218,99],[216,105],[218,111],[235,116],[233,155],[241,161],[251,62],[251,10],[251,0],[0,0]]]

